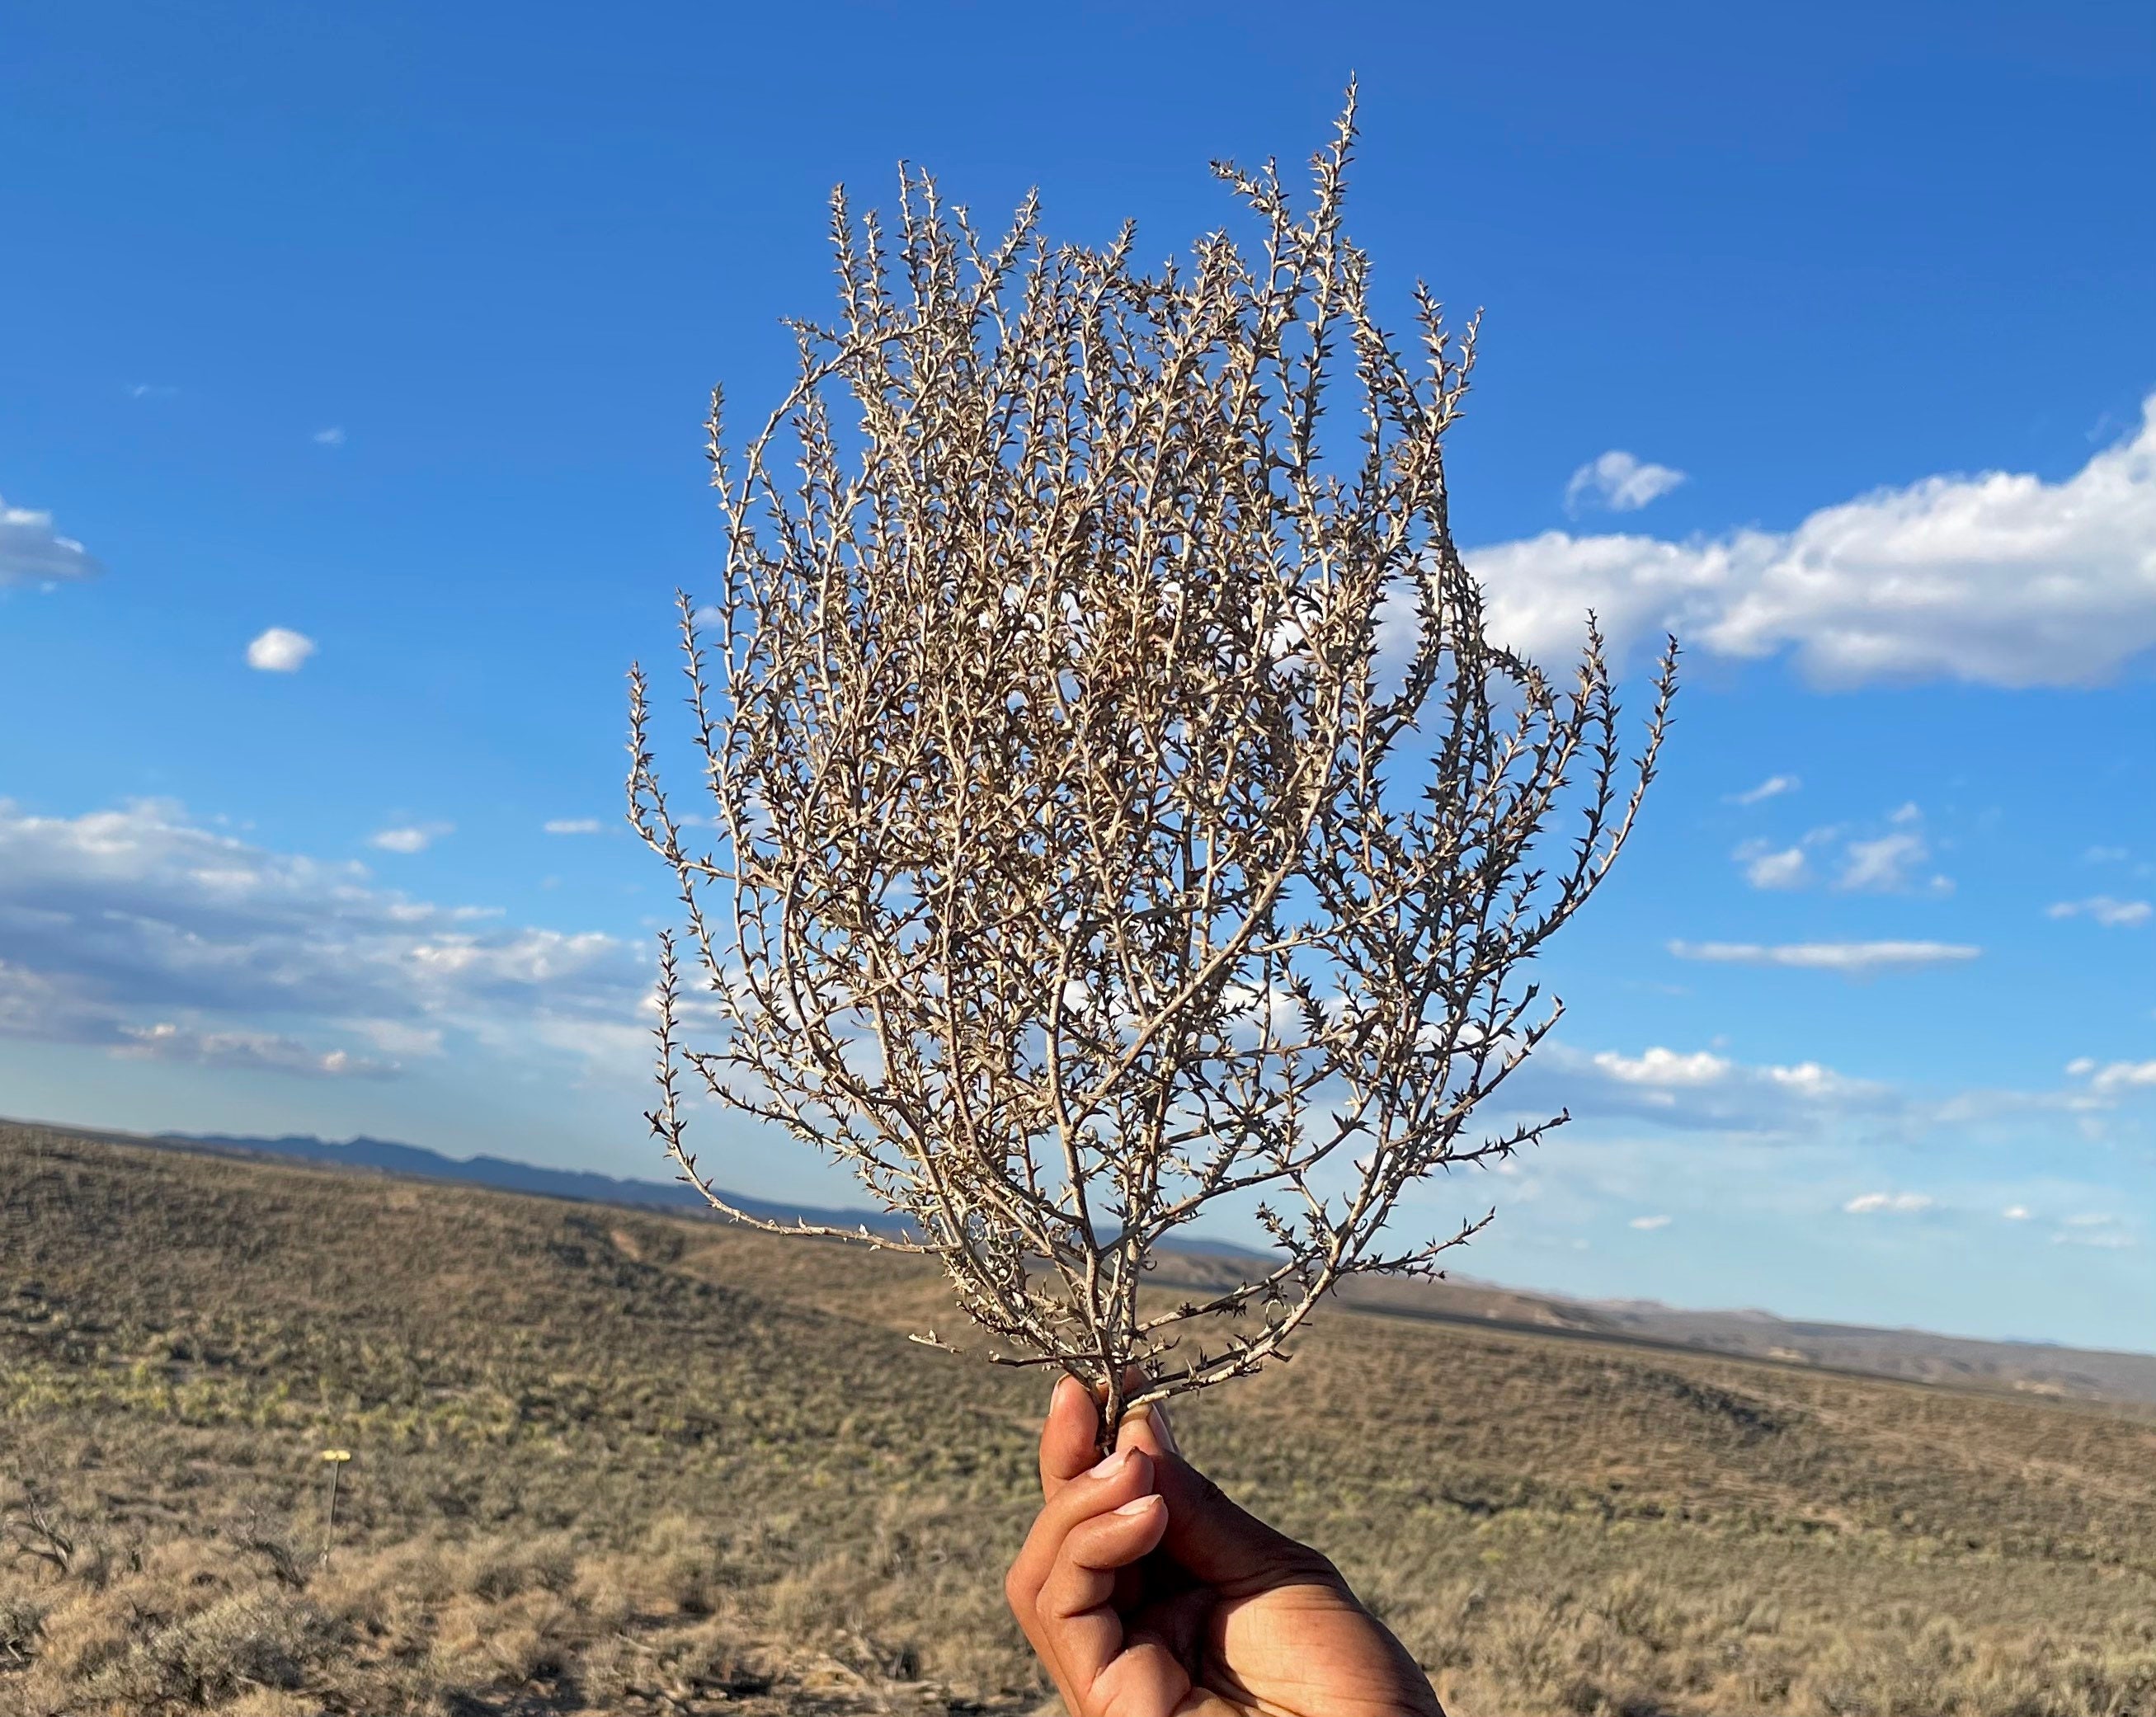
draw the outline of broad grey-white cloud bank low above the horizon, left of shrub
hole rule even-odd
[[[4,1035],[321,1076],[388,1074],[446,1038],[612,1068],[647,990],[612,936],[412,899],[177,805],[0,800]]]

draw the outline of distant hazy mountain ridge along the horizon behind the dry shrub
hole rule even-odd
[[[332,1143],[313,1135],[280,1139],[198,1132],[97,1132],[60,1128],[78,1137],[110,1137],[123,1143],[166,1145],[172,1150],[244,1152],[306,1163],[371,1169],[375,1173],[414,1176],[492,1186],[505,1193],[576,1199],[580,1204],[625,1204],[681,1214],[707,1214],[703,1197],[681,1182],[623,1180],[580,1169],[541,1169],[507,1156],[446,1156],[420,1145],[390,1139],[356,1137]],[[742,1193],[722,1197],[750,1217],[819,1227],[867,1227],[897,1234],[903,1223],[882,1210],[832,1210],[776,1204]],[[1190,1240],[1160,1260],[1162,1286],[1205,1288],[1242,1279],[1242,1264],[1253,1258],[1244,1247],[1216,1240]],[[1772,1311],[1688,1311],[1658,1301],[1576,1301],[1563,1294],[1498,1288],[1494,1283],[1453,1277],[1447,1281],[1360,1279],[1341,1290],[1343,1303],[1358,1311],[1404,1318],[1438,1318],[1442,1322],[1475,1322],[1531,1329],[1546,1335],[1639,1342],[1647,1346],[1699,1348],[1740,1359],[1761,1359],[1781,1365],[1815,1365],[1833,1372],[1889,1376],[1908,1383],[1960,1385],[2078,1400],[2156,1404],[2156,1355],[2104,1352],[2068,1348],[2053,1342],[1984,1342],[1962,1335],[1934,1335],[1921,1329],[1867,1329],[1861,1324],[1822,1324],[1781,1318]]]

